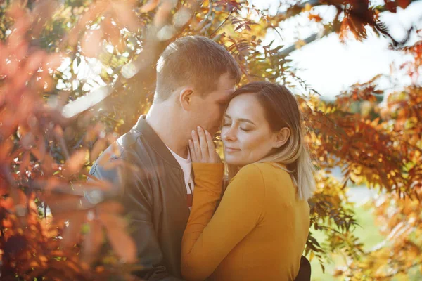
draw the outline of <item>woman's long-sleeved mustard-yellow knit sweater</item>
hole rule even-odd
[[[183,236],[186,280],[294,280],[309,232],[309,205],[270,163],[244,166],[221,195],[223,164],[193,164],[193,207]],[[214,212],[215,211],[215,212]]]

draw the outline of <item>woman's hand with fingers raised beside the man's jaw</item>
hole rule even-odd
[[[219,155],[215,151],[211,134],[198,127],[198,132],[192,131],[192,140],[189,140],[191,159],[195,163],[221,163]]]

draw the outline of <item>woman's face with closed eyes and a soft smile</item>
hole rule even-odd
[[[257,162],[279,147],[277,133],[271,131],[264,107],[253,93],[233,98],[222,126],[224,157],[227,164],[245,166]]]

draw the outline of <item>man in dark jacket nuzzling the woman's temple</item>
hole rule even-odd
[[[219,129],[223,111],[241,77],[228,51],[205,37],[181,37],[167,46],[157,64],[153,105],[121,136],[117,145],[131,169],[106,169],[101,157],[90,174],[120,191],[131,218],[145,280],[179,280],[181,237],[189,216],[193,178],[188,139],[201,126]],[[134,169],[135,168],[135,169]]]

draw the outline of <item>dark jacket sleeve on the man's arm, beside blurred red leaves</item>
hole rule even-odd
[[[129,218],[129,233],[136,243],[138,261],[134,275],[143,280],[181,280],[167,272],[162,250],[153,226],[152,198],[143,171],[134,173],[122,164],[121,159],[109,159],[103,166],[94,164],[89,174],[101,181],[112,183],[117,200],[122,203]],[[108,167],[107,167],[108,166]],[[109,167],[112,166],[110,169]],[[107,169],[107,168],[108,169]],[[92,181],[92,179],[89,179]]]

